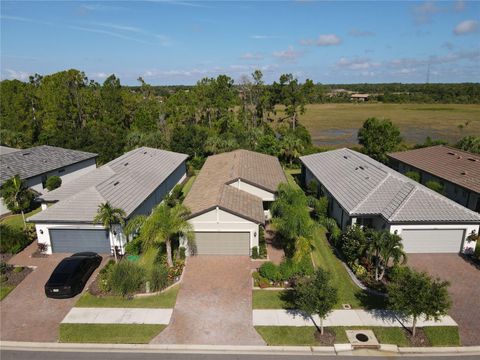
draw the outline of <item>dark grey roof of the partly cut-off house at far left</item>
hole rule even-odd
[[[97,154],[94,153],[48,145],[5,154],[2,152],[0,155],[0,183],[3,184],[15,175],[19,175],[22,179],[28,179],[95,157]]]

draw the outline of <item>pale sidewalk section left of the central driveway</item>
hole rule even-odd
[[[73,308],[62,324],[169,324],[173,309]]]

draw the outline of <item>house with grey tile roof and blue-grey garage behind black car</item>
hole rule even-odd
[[[127,220],[149,215],[186,178],[187,157],[141,147],[46,193],[42,201],[53,204],[28,219],[35,223],[38,243],[48,247],[47,253],[110,253],[114,247],[123,253],[127,239],[120,225],[109,233],[94,224],[98,206],[109,202],[123,209]]]

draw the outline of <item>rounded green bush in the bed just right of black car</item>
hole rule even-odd
[[[128,296],[138,291],[145,280],[144,269],[131,261],[120,261],[111,267],[108,284],[115,295]]]

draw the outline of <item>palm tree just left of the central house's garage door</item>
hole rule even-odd
[[[187,221],[189,210],[182,204],[169,207],[165,203],[158,205],[142,226],[141,238],[146,249],[165,243],[167,263],[173,266],[172,239],[180,235],[193,240],[193,228]]]

